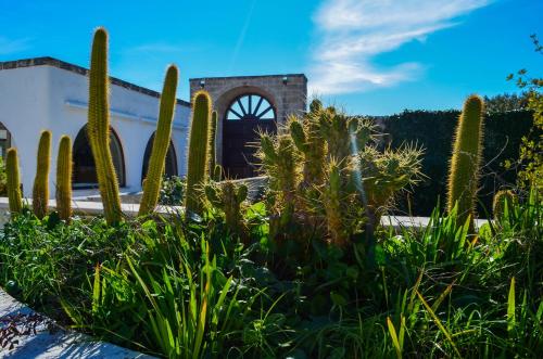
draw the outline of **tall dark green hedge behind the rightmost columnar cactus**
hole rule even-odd
[[[388,133],[386,143],[391,143],[393,148],[402,143],[418,143],[426,149],[422,172],[428,178],[409,194],[413,215],[430,215],[438,196],[441,206],[444,206],[449,161],[458,115],[459,111],[405,111],[380,118]],[[505,170],[502,163],[518,158],[520,139],[528,133],[531,124],[532,113],[528,111],[487,115],[479,217],[485,217],[484,208],[490,211],[494,191],[515,183],[516,170]],[[408,213],[406,195],[399,200],[396,213]]]

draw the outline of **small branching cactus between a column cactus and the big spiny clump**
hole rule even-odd
[[[241,205],[247,198],[247,185],[237,185],[235,182],[227,180],[218,184],[209,183],[204,190],[207,201],[225,214],[226,226],[230,232],[244,238],[245,231]]]

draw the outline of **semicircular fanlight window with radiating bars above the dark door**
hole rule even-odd
[[[226,113],[227,120],[274,120],[275,110],[268,100],[256,93],[242,94],[233,100]]]

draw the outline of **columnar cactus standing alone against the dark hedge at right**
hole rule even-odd
[[[471,229],[482,153],[483,107],[483,101],[478,95],[470,95],[464,103],[449,175],[447,210],[452,211],[457,204],[458,220],[465,222],[471,216]]]

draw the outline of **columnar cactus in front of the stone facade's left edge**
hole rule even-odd
[[[210,118],[212,101],[205,91],[198,91],[192,101],[189,154],[187,168],[187,214],[201,214],[203,204],[198,187],[203,185],[210,170]]]

